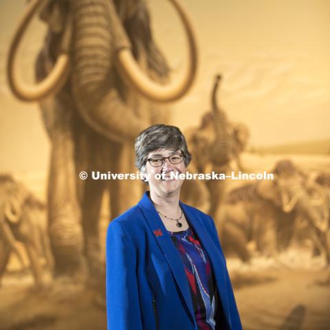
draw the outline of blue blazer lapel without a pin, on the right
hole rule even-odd
[[[195,230],[195,234],[203,246],[204,250],[208,253],[210,263],[212,264],[212,270],[214,272],[214,277],[217,282],[217,289],[219,296],[221,298],[221,303],[225,315],[230,315],[229,302],[228,302],[228,288],[225,281],[225,259],[221,255],[219,248],[214,244],[212,239],[210,239],[210,234],[208,234],[205,226],[203,225],[203,218],[199,216],[197,212],[194,212],[191,208],[188,208],[186,204],[181,203],[180,206],[184,210],[187,221],[190,223],[192,228]]]

